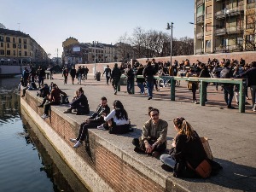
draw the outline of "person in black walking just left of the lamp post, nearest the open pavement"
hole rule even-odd
[[[148,88],[148,100],[152,99],[154,89],[154,67],[151,65],[151,61],[148,61],[147,67],[143,70],[143,77],[146,79]]]

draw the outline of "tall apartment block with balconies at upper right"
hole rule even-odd
[[[256,50],[256,0],[195,0],[194,54]]]

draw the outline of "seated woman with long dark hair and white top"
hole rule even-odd
[[[111,134],[125,134],[130,130],[130,121],[128,119],[128,113],[119,100],[113,102],[113,110],[106,116],[106,113],[102,113],[106,123],[100,125],[97,129],[108,130]]]

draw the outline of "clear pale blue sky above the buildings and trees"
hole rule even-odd
[[[166,30],[173,38],[194,38],[194,0],[0,0],[0,23],[34,38],[50,57],[61,56],[62,42],[116,44],[137,27]]]

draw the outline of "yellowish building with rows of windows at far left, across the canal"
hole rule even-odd
[[[0,28],[0,64],[42,64],[48,56],[44,49],[28,34]]]

